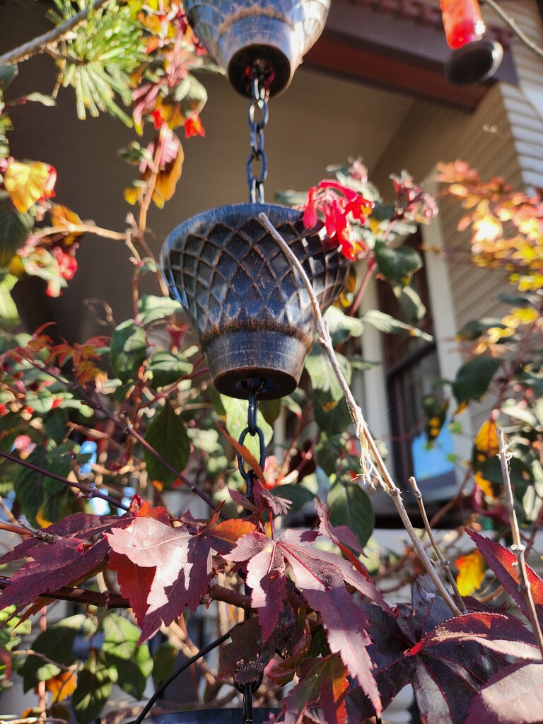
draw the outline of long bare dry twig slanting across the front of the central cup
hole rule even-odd
[[[423,563],[424,568],[426,568],[426,571],[429,574],[430,578],[432,578],[434,586],[436,586],[437,591],[445,600],[445,603],[450,608],[452,614],[455,616],[461,615],[462,612],[456,605],[454,599],[452,599],[450,593],[445,588],[445,585],[443,584],[441,578],[439,578],[439,576],[437,575],[437,571],[435,570],[432,561],[429,559],[426,550],[424,550],[424,546],[421,540],[418,538],[418,535],[413,528],[413,524],[409,519],[408,512],[407,510],[405,510],[405,506],[403,505],[400,488],[397,487],[395,482],[392,480],[392,476],[390,475],[387,466],[385,466],[384,464],[384,460],[381,457],[381,453],[379,452],[376,442],[371,436],[371,433],[369,432],[369,428],[366,420],[364,419],[361,408],[359,408],[356,404],[353,393],[350,391],[350,387],[347,384],[345,377],[343,376],[343,373],[340,369],[340,364],[337,361],[337,357],[334,353],[332,337],[330,337],[327,322],[321,314],[319,301],[316,298],[315,292],[313,290],[313,287],[311,286],[311,282],[308,279],[305,269],[303,269],[303,266],[302,264],[300,264],[300,261],[295,256],[295,253],[292,252],[290,247],[287,245],[285,239],[283,239],[283,237],[279,234],[274,225],[271,224],[266,214],[258,214],[258,219],[260,220],[262,226],[269,231],[270,235],[274,238],[274,240],[277,241],[277,244],[282,248],[282,251],[286,254],[287,258],[290,259],[292,266],[294,266],[296,271],[298,271],[300,279],[302,280],[303,285],[306,287],[309,298],[311,299],[313,313],[316,317],[316,321],[319,327],[319,342],[321,342],[324,351],[327,353],[329,361],[332,364],[332,370],[337,377],[337,381],[340,383],[343,395],[345,396],[345,400],[347,401],[350,410],[350,414],[351,416],[353,416],[353,420],[355,421],[356,432],[358,434],[358,438],[360,439],[362,450],[367,450],[370,453],[371,458],[373,458],[375,466],[379,471],[382,485],[387,490],[387,492],[389,492],[390,497],[392,497],[392,502],[394,502],[395,508],[398,515],[400,515],[403,526],[405,527],[405,530],[407,531],[408,536],[413,543],[413,548],[416,550],[416,553],[421,559],[421,562]]]

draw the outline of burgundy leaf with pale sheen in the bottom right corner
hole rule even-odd
[[[466,724],[539,724],[542,711],[543,664],[516,663],[483,686]]]

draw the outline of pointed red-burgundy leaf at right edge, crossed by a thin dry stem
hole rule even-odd
[[[526,599],[523,597],[522,591],[518,589],[517,557],[515,554],[500,543],[496,543],[489,538],[479,535],[476,531],[466,530],[466,533],[484,555],[484,560],[486,560],[490,568],[492,568],[500,584],[502,584],[508,594],[510,594],[522,613],[528,617],[529,612],[526,607]],[[543,581],[529,565],[526,565],[526,571],[528,573],[531,596],[534,599],[539,625],[543,626]]]

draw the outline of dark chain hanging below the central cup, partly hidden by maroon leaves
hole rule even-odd
[[[251,201],[253,201],[253,199],[251,199]],[[243,387],[249,393],[249,405],[247,411],[247,427],[245,427],[243,432],[240,434],[239,439],[240,445],[243,445],[247,435],[251,435],[251,437],[255,437],[255,435],[258,436],[258,464],[262,470],[264,470],[264,463],[266,463],[266,442],[264,440],[264,432],[262,432],[262,430],[258,427],[256,421],[258,417],[258,392],[261,391],[265,383],[266,380],[264,379],[248,380],[248,382],[243,383]],[[245,497],[249,502],[253,502],[255,473],[253,470],[245,468],[245,460],[243,460],[239,453],[237,455],[237,465],[240,468],[240,475],[245,480]],[[245,583],[245,595],[251,596],[251,587],[248,586],[247,583]],[[245,611],[245,620],[250,616],[251,612]],[[254,681],[248,681],[244,684],[236,683],[237,690],[241,691],[243,694],[243,724],[253,724],[253,694],[261,685],[262,676],[263,675],[261,673]]]

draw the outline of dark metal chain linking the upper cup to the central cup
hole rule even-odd
[[[264,127],[268,122],[269,90],[266,80],[269,73],[260,64],[251,68],[251,105],[249,106],[249,131],[251,132],[251,156],[247,161],[247,182],[249,201],[264,203],[264,181],[268,175],[266,153],[264,153]],[[256,174],[255,164],[260,164],[260,174]]]

